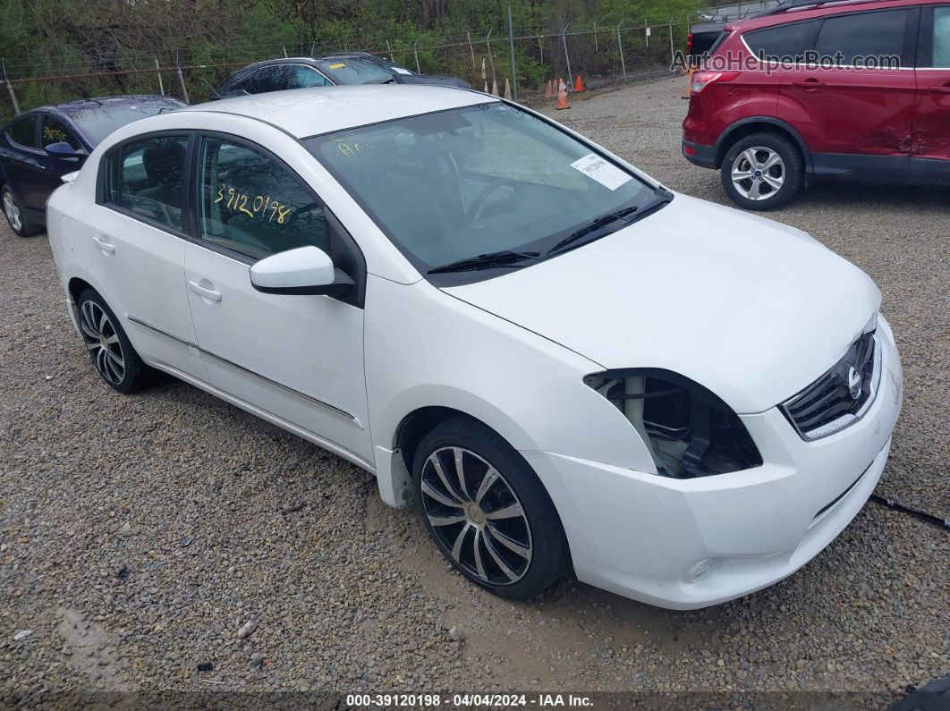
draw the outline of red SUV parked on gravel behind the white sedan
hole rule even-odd
[[[950,0],[789,3],[727,26],[693,75],[683,156],[750,210],[808,178],[950,184]]]

